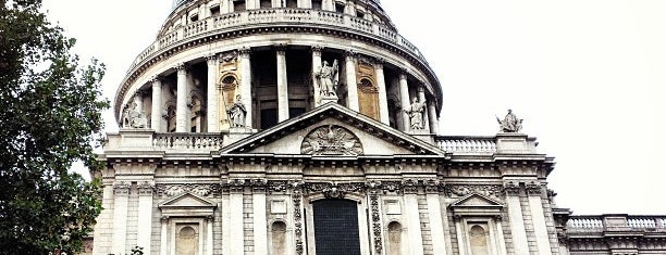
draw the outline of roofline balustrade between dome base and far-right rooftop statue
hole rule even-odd
[[[437,145],[453,153],[495,153],[494,137],[436,137]]]

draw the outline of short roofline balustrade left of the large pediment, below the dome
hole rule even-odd
[[[169,132],[156,133],[152,146],[157,150],[202,150],[214,151],[222,148],[220,133]]]

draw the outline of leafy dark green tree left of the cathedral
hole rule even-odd
[[[70,168],[99,167],[104,66],[79,65],[41,0],[0,3],[0,254],[73,254],[101,211]]]

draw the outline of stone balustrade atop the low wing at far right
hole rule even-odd
[[[664,216],[595,215],[571,216],[567,221],[568,232],[603,231],[658,231],[666,232]]]

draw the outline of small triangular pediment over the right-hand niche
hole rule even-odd
[[[471,193],[449,205],[457,216],[499,216],[504,205],[491,197]]]

